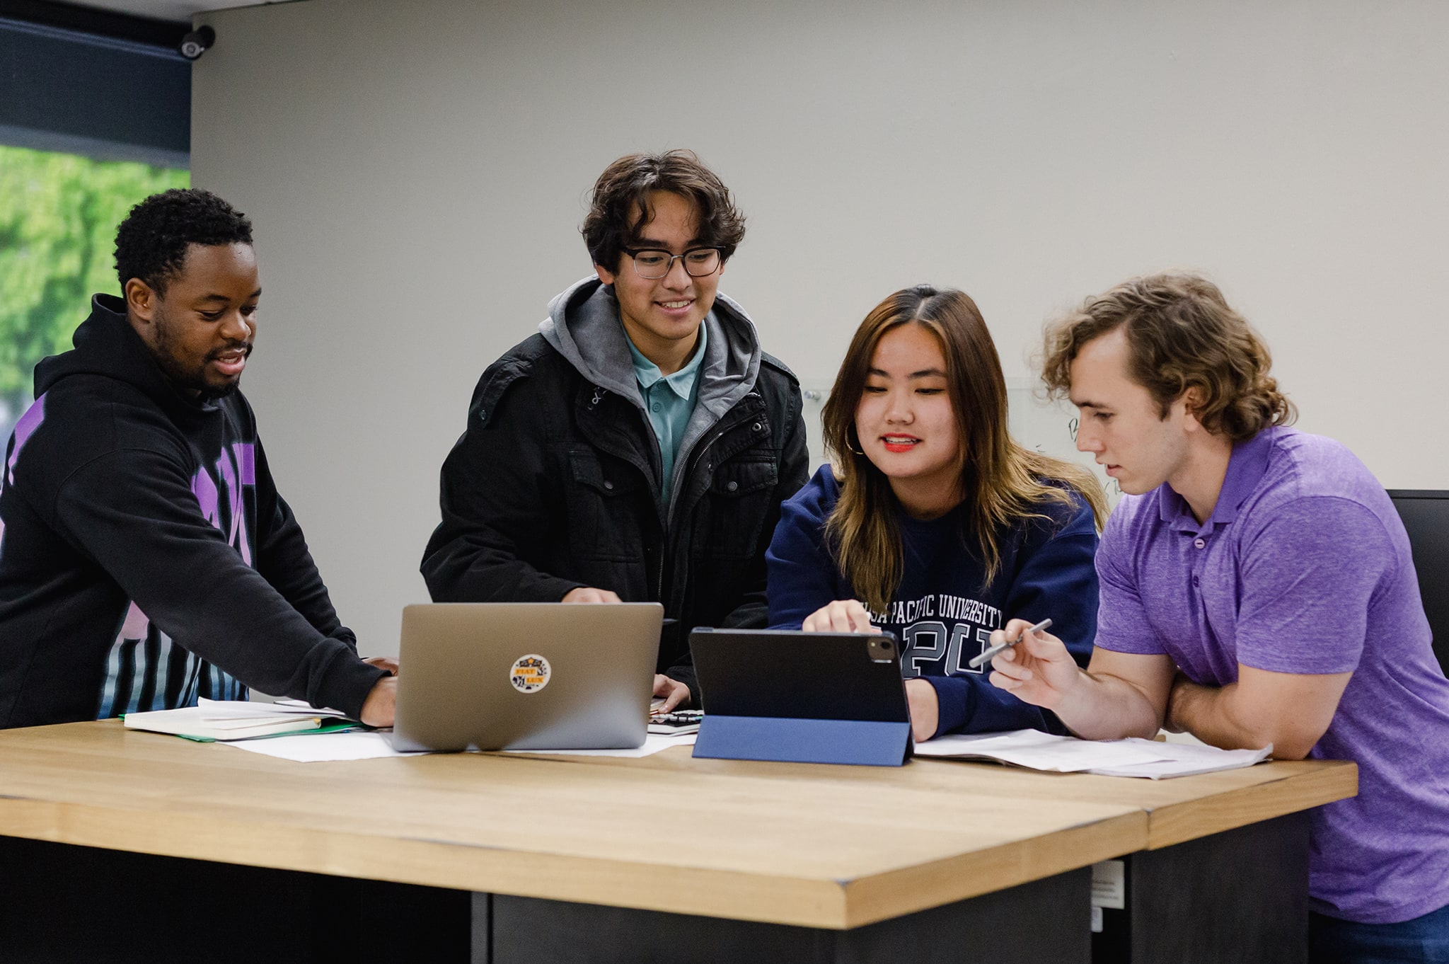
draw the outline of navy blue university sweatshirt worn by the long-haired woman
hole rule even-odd
[[[858,593],[840,576],[824,542],[824,523],[840,496],[829,465],[784,503],[765,561],[769,567],[769,625],[800,629],[804,618]],[[884,613],[871,622],[901,642],[901,673],[936,689],[936,734],[1042,729],[1066,732],[1051,710],[1023,703],[966,668],[1007,619],[1052,619],[1051,632],[1087,665],[1097,633],[1097,529],[1091,507],[1043,502],[1046,518],[1020,519],[997,532],[1001,564],[985,584],[985,565],[964,506],[923,522],[900,512],[906,567]]]

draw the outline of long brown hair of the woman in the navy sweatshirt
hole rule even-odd
[[[1098,529],[1107,518],[1107,500],[1091,473],[1011,438],[1001,360],[977,303],[965,291],[929,284],[897,291],[855,329],[822,413],[826,451],[840,483],[826,539],[840,574],[877,613],[885,612],[906,567],[900,503],[890,478],[861,451],[855,412],[875,346],[887,332],[911,323],[930,331],[946,358],[946,391],[961,438],[961,494],[968,506],[962,535],[975,535],[988,584],[1001,564],[997,529],[1014,519],[1042,518],[1042,502],[1069,504],[1077,491],[1091,506]]]

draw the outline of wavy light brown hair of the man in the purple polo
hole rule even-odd
[[[1123,281],[1046,328],[1042,381],[1053,397],[1071,390],[1071,365],[1087,342],[1124,328],[1129,374],[1152,393],[1162,417],[1191,388],[1193,416],[1233,441],[1298,415],[1268,374],[1268,345],[1195,274],[1149,274]]]

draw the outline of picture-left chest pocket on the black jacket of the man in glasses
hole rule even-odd
[[[623,464],[600,461],[587,445],[568,449],[568,542],[580,560],[642,562],[642,480]]]

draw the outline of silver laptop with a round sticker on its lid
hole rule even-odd
[[[643,745],[659,603],[403,609],[396,749]]]

